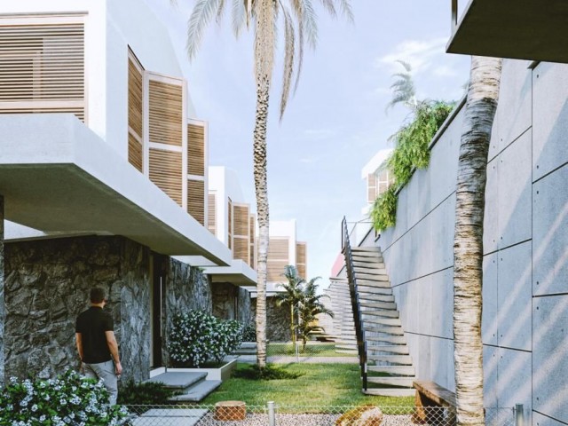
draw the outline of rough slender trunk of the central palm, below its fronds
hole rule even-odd
[[[256,364],[266,366],[266,260],[268,258],[268,188],[266,185],[266,124],[268,121],[267,75],[257,78],[256,122],[254,131],[254,176],[258,218],[258,257],[256,259]]]

